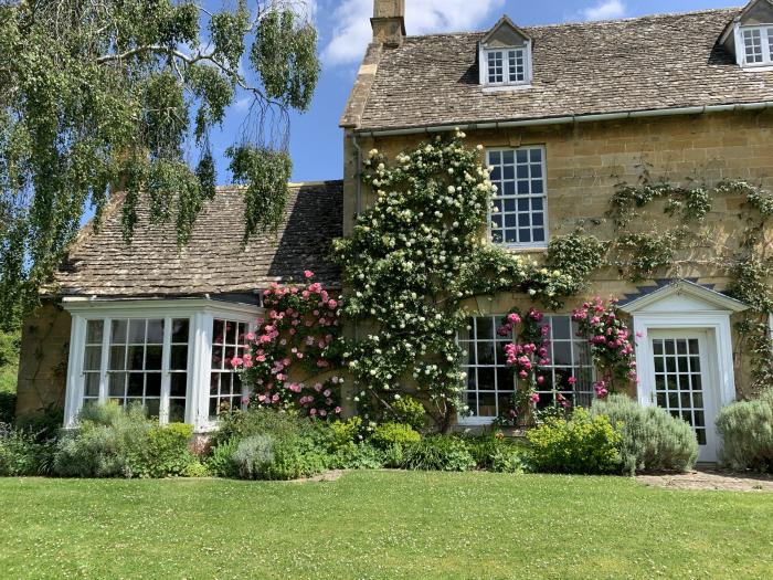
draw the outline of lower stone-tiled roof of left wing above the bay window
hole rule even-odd
[[[342,182],[290,186],[287,218],[278,233],[256,234],[242,247],[244,198],[239,188],[219,188],[199,215],[189,245],[178,251],[174,228],[153,226],[140,212],[133,242],[120,231],[120,203],[98,233],[86,230],[56,274],[63,295],[189,296],[248,293],[272,282],[316,280],[340,287],[330,264],[331,241],[341,235]]]

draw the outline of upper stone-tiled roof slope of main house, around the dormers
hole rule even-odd
[[[528,89],[484,93],[484,33],[407,36],[383,51],[360,130],[538,119],[773,101],[773,72],[743,71],[719,45],[739,9],[525,29]]]

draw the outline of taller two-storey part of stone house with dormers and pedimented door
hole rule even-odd
[[[373,42],[341,117],[345,233],[374,200],[361,182],[368,151],[394,159],[456,129],[472,147],[483,145],[497,186],[490,243],[538,262],[551,240],[579,229],[605,240],[620,235],[608,219],[611,199],[621,183],[635,186],[644,176],[773,188],[769,0],[536,28],[504,17],[486,32],[426,36],[405,35],[404,15],[403,1],[374,2]],[[705,218],[726,252],[744,242],[743,205],[740,194],[717,198]],[[660,208],[626,233],[664,219]],[[770,239],[770,230],[763,235]],[[750,358],[734,329],[748,305],[723,294],[731,281],[712,263],[712,244],[700,245],[700,259],[681,256],[663,278],[634,283],[620,268],[599,270],[586,295],[548,313],[551,365],[542,404],[552,403],[553,389],[590,402],[594,369],[570,314],[593,296],[614,295],[637,334],[636,397],[692,424],[701,460],[716,460],[718,410],[749,393]],[[459,338],[472,414],[460,424],[488,424],[509,400],[513,379],[491,347],[502,315],[529,304],[502,293],[469,305],[478,315]],[[579,379],[574,386],[570,377]]]

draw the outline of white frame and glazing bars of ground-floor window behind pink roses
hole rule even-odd
[[[593,366],[593,361],[592,361],[591,358],[590,358],[590,346],[589,346],[589,354],[587,354],[587,356],[589,356],[589,358],[587,358],[587,365],[580,365],[580,363],[578,363],[578,361],[575,361],[575,342],[581,342],[582,339],[580,339],[580,338],[578,338],[576,336],[574,336],[575,333],[574,333],[573,330],[574,330],[575,324],[572,321],[571,315],[570,315],[570,314],[547,314],[547,315],[546,315],[546,320],[544,320],[544,323],[546,323],[546,324],[549,324],[549,323],[552,321],[552,318],[560,318],[560,317],[569,318],[569,323],[570,323],[570,337],[569,337],[569,338],[565,338],[565,339],[564,339],[564,338],[562,338],[562,339],[553,339],[553,326],[552,326],[552,324],[550,325],[550,326],[551,326],[551,330],[550,330],[549,340],[551,341],[551,345],[548,347],[548,350],[549,350],[549,354],[550,354],[550,356],[549,356],[550,363],[547,365],[546,367],[543,367],[543,370],[544,370],[543,375],[544,375],[544,376],[549,376],[550,379],[551,379],[551,382],[552,382],[552,381],[555,380],[557,371],[559,371],[560,369],[568,369],[568,368],[569,368],[569,369],[589,369],[589,370],[591,371],[590,383],[586,384],[584,389],[582,388],[582,386],[578,384],[578,387],[576,387],[575,389],[573,389],[572,398],[573,398],[573,400],[575,400],[578,396],[587,396],[589,399],[592,399],[592,398],[593,398],[593,394],[594,394],[592,383],[593,383],[593,381],[595,380],[595,368],[594,368],[594,366]],[[506,336],[506,337],[500,337],[500,336],[497,334],[497,329],[501,326],[502,320],[504,320],[504,318],[505,318],[505,315],[504,315],[504,314],[499,314],[499,315],[478,315],[478,316],[473,316],[472,318],[475,318],[475,319],[476,319],[476,321],[474,323],[474,324],[476,325],[476,327],[477,327],[477,319],[480,319],[480,318],[488,318],[488,319],[490,319],[490,320],[491,320],[491,324],[494,325],[494,338],[493,338],[493,339],[488,339],[488,338],[478,338],[477,333],[475,331],[475,328],[474,328],[474,329],[470,330],[470,333],[469,333],[469,335],[468,335],[468,339],[460,339],[460,338],[457,336],[457,342],[458,342],[460,346],[463,346],[463,347],[469,347],[469,348],[472,349],[472,348],[477,348],[477,344],[478,344],[478,342],[489,342],[489,341],[494,341],[495,350],[496,350],[498,344],[502,344],[502,345],[510,344],[510,342],[512,342],[512,341],[517,338],[517,337],[515,336],[515,333],[513,333],[513,335]],[[569,366],[568,366],[568,365],[555,365],[555,361],[554,361],[553,358],[552,358],[552,355],[553,355],[553,344],[552,344],[552,342],[553,342],[553,341],[558,341],[558,342],[570,342],[570,345],[571,345],[571,346],[570,346],[570,357],[572,358],[572,361],[571,361],[571,363],[570,363]],[[468,360],[469,360],[469,355],[472,355],[472,352],[468,354]],[[495,354],[495,357],[496,357],[496,356],[497,356],[497,355]],[[474,365],[464,363],[463,367],[465,368],[466,372],[469,372],[469,369],[476,370],[476,369],[478,369],[478,368],[490,368],[490,369],[494,370],[494,381],[495,381],[495,382],[494,382],[494,389],[483,389],[483,390],[484,390],[484,391],[487,391],[487,392],[494,392],[494,393],[495,393],[495,400],[497,401],[496,404],[497,404],[497,408],[498,408],[498,405],[499,405],[499,401],[498,401],[499,394],[512,393],[512,392],[515,392],[515,390],[517,389],[518,383],[517,383],[517,381],[516,381],[516,377],[515,377],[515,375],[512,375],[512,376],[510,376],[510,378],[509,378],[509,382],[511,382],[511,384],[508,384],[508,386],[511,387],[511,388],[508,388],[508,389],[500,389],[500,388],[499,388],[499,378],[498,378],[498,376],[497,376],[497,371],[498,371],[499,369],[507,369],[508,375],[510,375],[511,371],[509,370],[509,368],[507,367],[507,365],[499,365],[499,363],[498,363],[498,360],[495,359],[495,365],[483,365],[483,366],[481,366],[481,365],[478,365],[478,363],[477,363],[477,352],[476,352],[475,357],[476,357],[476,358],[475,358],[475,363],[474,363]],[[573,372],[573,376],[576,377],[576,372]],[[469,383],[467,383],[467,384],[469,384]],[[479,389],[479,388],[478,388],[478,384],[477,384],[477,376],[476,376],[476,391],[480,391],[480,390],[481,390],[481,389]],[[465,387],[465,390],[464,390],[465,401],[467,401],[467,393],[468,393],[468,392],[469,392],[469,390],[467,389],[467,387]],[[538,393],[540,393],[540,394],[549,394],[549,393],[552,393],[552,390],[549,390],[549,389],[541,389],[541,388],[539,388],[539,386],[538,386],[536,392],[538,392]],[[565,391],[559,391],[559,392],[565,392]],[[497,410],[498,410],[498,409],[497,409]],[[497,413],[497,415],[498,415],[498,413]],[[494,423],[494,421],[496,421],[496,419],[497,419],[497,415],[490,416],[490,415],[465,414],[465,415],[459,415],[457,422],[458,422],[459,425],[465,425],[465,426],[485,426],[485,425],[490,425],[491,423]]]

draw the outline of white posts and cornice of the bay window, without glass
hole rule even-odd
[[[160,422],[168,413],[169,388],[171,383],[171,320],[189,319],[188,336],[188,383],[186,398],[186,423],[193,425],[195,432],[205,432],[216,428],[216,422],[209,419],[210,370],[212,356],[212,325],[215,318],[245,323],[254,330],[255,320],[263,314],[263,308],[248,304],[234,304],[208,298],[190,299],[128,299],[97,300],[86,298],[65,298],[63,307],[72,317],[70,334],[70,356],[67,363],[67,389],[64,409],[64,426],[72,428],[83,408],[84,391],[84,354],[86,325],[88,320],[102,319],[103,349],[99,381],[99,401],[108,399],[107,365],[109,352],[109,320],[113,319],[159,319],[165,323],[163,361],[161,378]]]

